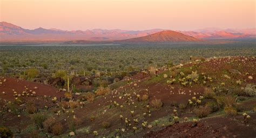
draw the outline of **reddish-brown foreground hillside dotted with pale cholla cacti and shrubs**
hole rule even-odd
[[[72,94],[1,78],[0,130],[21,137],[255,137],[255,65],[255,57],[191,57]]]

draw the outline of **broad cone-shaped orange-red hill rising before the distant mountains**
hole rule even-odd
[[[166,30],[157,33],[150,34],[144,37],[132,38],[122,40],[124,42],[194,42],[200,41],[200,39],[192,36],[187,36],[183,33]]]

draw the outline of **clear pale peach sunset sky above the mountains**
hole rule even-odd
[[[255,0],[0,0],[0,21],[25,29],[256,27]]]

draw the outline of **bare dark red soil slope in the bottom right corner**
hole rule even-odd
[[[150,132],[144,137],[255,137],[256,114],[250,114],[251,120],[246,125],[242,115],[202,119],[196,127],[193,122],[178,123],[158,132]]]

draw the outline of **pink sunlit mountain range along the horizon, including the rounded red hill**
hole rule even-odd
[[[151,35],[153,34],[153,35]],[[217,29],[208,28],[194,31],[165,31],[164,29],[152,29],[143,31],[132,30],[76,30],[65,31],[59,29],[44,29],[39,27],[34,30],[0,22],[0,42],[23,41],[113,41],[125,42],[177,42],[194,41],[199,39],[224,39],[224,38],[256,38],[256,29]]]

